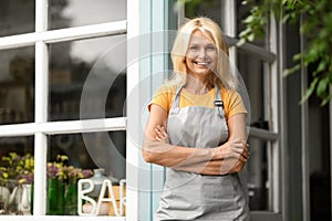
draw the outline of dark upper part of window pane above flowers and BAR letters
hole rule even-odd
[[[83,168],[104,168],[114,180],[125,179],[125,131],[54,135],[49,137],[49,161],[58,155],[68,156],[65,165]]]

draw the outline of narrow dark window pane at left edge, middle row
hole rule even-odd
[[[34,120],[34,48],[0,52],[0,124]]]

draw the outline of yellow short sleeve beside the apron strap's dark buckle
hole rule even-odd
[[[225,107],[225,115],[228,119],[236,114],[247,114],[246,106],[243,104],[241,95],[236,91],[224,91],[222,102]]]

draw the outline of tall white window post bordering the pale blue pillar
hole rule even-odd
[[[127,0],[127,136],[126,136],[126,220],[138,220],[138,162],[141,144],[133,137],[139,134],[139,1]]]

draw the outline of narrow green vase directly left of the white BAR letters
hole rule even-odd
[[[64,214],[77,214],[77,182],[76,180],[69,180],[65,191]]]

